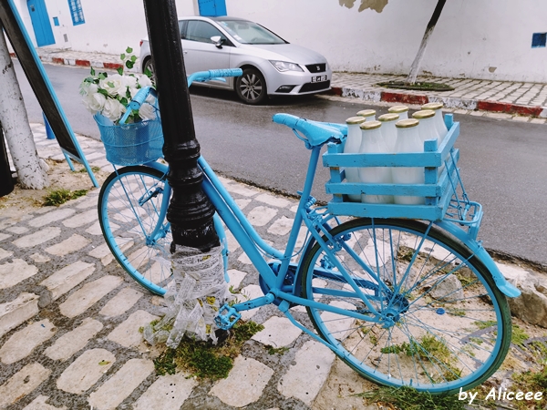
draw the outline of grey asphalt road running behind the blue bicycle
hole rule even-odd
[[[88,69],[46,65],[72,128],[98,138],[98,128],[79,102],[78,85]],[[28,118],[43,122],[41,109],[15,61]],[[249,107],[233,93],[208,89],[191,92],[196,135],[201,153],[222,174],[254,185],[294,194],[303,185],[309,151],[289,128],[272,122],[277,112],[304,118],[344,122],[356,111],[376,108],[318,97],[274,99]],[[547,265],[547,125],[455,115],[461,123],[457,143],[462,179],[471,200],[482,203],[485,216],[480,240],[490,250]],[[317,172],[315,196],[328,200],[323,184],[326,169]]]

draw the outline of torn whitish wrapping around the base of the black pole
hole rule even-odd
[[[221,247],[203,253],[177,245],[171,267],[173,281],[165,293],[166,314],[159,323],[145,327],[145,340],[176,348],[187,333],[216,343],[214,317],[227,294]]]

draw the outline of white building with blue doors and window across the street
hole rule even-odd
[[[198,1],[225,1],[228,15],[249,18],[292,43],[315,49],[335,71],[394,74],[408,73],[437,4],[389,0],[381,13],[359,13],[361,0],[351,9],[341,6],[342,0],[177,0],[179,15],[198,14]],[[49,47],[118,54],[127,46],[137,48],[146,36],[141,0],[15,2],[33,39],[33,27],[44,25],[32,21],[30,7],[45,5],[55,40]],[[547,2],[537,0],[449,0],[430,39],[422,73],[547,82],[545,15]]]

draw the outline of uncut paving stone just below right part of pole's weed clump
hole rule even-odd
[[[222,403],[243,407],[256,402],[274,375],[274,370],[250,357],[237,356],[228,377],[212,386],[210,395]]]

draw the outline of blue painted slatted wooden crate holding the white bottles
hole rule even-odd
[[[449,133],[443,139],[440,147],[437,141],[428,140],[424,143],[423,153],[404,154],[344,154],[343,144],[328,144],[323,155],[323,164],[330,168],[331,179],[325,184],[327,194],[333,199],[328,203],[328,209],[335,215],[352,215],[369,218],[408,218],[415,220],[443,220],[450,201],[461,196],[461,181],[459,179],[458,159],[459,149],[454,149],[454,143],[459,136],[459,122],[453,122],[452,115],[445,116]],[[438,178],[438,169],[446,159],[446,167]],[[366,184],[349,183],[345,170],[348,167],[425,167],[425,183],[414,185],[403,184]],[[459,188],[460,187],[460,188]],[[370,195],[408,195],[425,197],[425,205],[374,204],[351,202],[347,194]],[[469,200],[467,206],[469,208]],[[480,205],[479,205],[480,206]],[[471,205],[473,207],[473,205]],[[474,212],[470,212],[473,217]],[[478,212],[481,214],[481,211]],[[456,216],[461,220],[461,216]],[[463,217],[465,220],[465,217]]]

